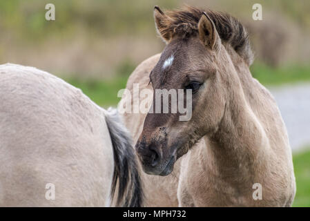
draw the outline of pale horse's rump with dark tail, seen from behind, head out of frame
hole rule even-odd
[[[141,206],[131,138],[115,110],[15,64],[0,65],[0,100],[0,206]]]

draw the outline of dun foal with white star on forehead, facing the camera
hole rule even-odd
[[[155,90],[184,90],[192,116],[122,115],[147,186],[144,206],[291,206],[296,181],[287,129],[275,99],[251,75],[246,28],[227,13],[190,6],[155,6],[154,18],[166,47],[137,66],[126,88],[151,90],[150,110]],[[159,104],[171,110],[171,102]]]

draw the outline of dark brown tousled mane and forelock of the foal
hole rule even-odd
[[[224,12],[202,10],[189,6],[186,6],[183,10],[168,11],[165,14],[171,19],[169,19],[166,28],[161,29],[160,32],[173,32],[174,35],[182,35],[184,37],[197,35],[197,24],[202,16],[202,12],[206,12],[211,17],[222,41],[230,44],[246,63],[251,65],[253,52],[248,32],[238,19]]]

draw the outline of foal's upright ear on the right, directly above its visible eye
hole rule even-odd
[[[215,28],[212,19],[203,12],[198,23],[199,38],[207,48],[217,50],[220,47],[221,39]]]

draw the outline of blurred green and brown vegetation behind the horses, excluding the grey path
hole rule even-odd
[[[47,3],[55,4],[55,21],[45,19]],[[135,66],[164,48],[153,6],[171,9],[184,3],[229,12],[246,25],[256,57],[251,73],[262,84],[310,81],[308,0],[0,1],[0,63],[47,70],[97,104],[116,105],[117,91]],[[262,21],[253,21],[253,3],[262,4]],[[294,206],[310,206],[310,152],[294,155],[294,164]]]

